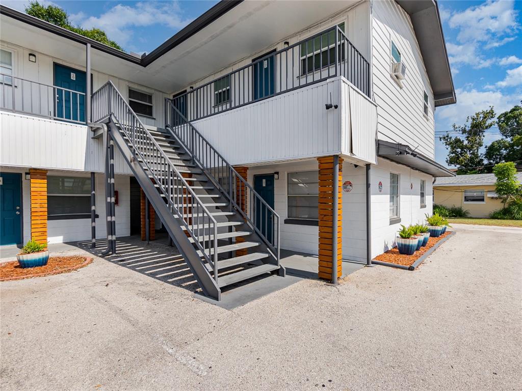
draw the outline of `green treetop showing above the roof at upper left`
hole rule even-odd
[[[29,6],[26,7],[26,13],[27,15],[45,20],[46,22],[52,23],[58,27],[73,31],[94,41],[98,41],[105,45],[112,46],[117,50],[123,51],[123,48],[116,42],[110,40],[103,30],[97,28],[82,29],[81,27],[73,26],[69,21],[69,15],[67,15],[63,8],[54,5],[44,6],[35,0],[29,2]]]

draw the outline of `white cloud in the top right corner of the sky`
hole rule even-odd
[[[453,13],[448,25],[459,29],[459,42],[486,42],[491,47],[499,46],[509,42],[502,38],[504,35],[513,35],[519,28],[514,5],[513,0],[488,0]]]

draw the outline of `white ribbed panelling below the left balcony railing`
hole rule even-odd
[[[76,171],[104,171],[103,141],[85,125],[0,112],[0,164]],[[131,170],[115,149],[114,169]]]

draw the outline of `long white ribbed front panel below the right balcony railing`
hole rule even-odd
[[[231,163],[253,164],[340,153],[340,78],[246,105],[194,122]]]

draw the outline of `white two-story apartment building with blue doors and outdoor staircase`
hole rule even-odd
[[[335,281],[453,175],[434,161],[456,101],[435,1],[220,2],[141,57],[0,21],[2,245],[131,235],[141,189],[210,296],[284,274],[280,249]]]

